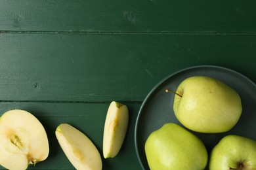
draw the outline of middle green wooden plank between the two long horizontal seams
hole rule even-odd
[[[142,101],[165,76],[220,65],[255,81],[249,35],[0,34],[1,101]]]

